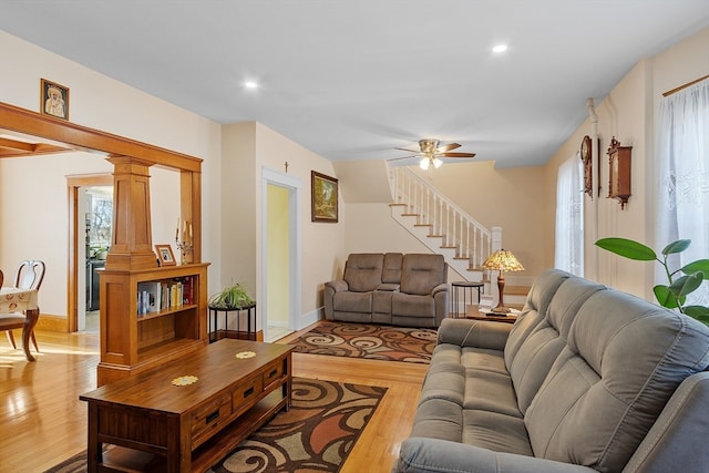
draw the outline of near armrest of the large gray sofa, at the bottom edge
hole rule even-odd
[[[401,444],[392,473],[597,473],[587,466],[493,452],[439,439],[410,438]]]

